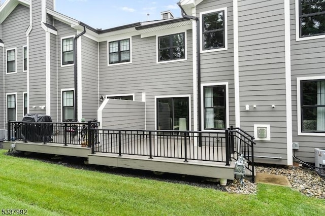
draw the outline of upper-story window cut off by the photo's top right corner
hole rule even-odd
[[[325,1],[299,0],[300,37],[325,34]]]

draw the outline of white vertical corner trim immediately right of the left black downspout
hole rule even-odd
[[[78,121],[82,118],[82,37],[77,40],[77,112]]]

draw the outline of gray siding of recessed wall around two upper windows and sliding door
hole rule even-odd
[[[157,64],[156,37],[137,35],[132,38],[132,63],[107,66],[107,42],[101,42],[100,95],[135,93],[136,100],[141,100],[141,93],[146,92],[147,129],[154,129],[155,96],[190,94],[193,98],[192,31],[186,33],[187,60],[178,62]]]

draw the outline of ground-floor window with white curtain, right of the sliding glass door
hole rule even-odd
[[[204,129],[225,129],[226,86],[204,86]]]

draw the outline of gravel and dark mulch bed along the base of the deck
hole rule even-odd
[[[0,149],[2,148],[2,142],[0,142]],[[186,176],[181,174],[160,173],[99,165],[88,165],[85,163],[85,159],[83,158],[63,156],[54,157],[52,155],[46,154],[22,152],[12,152],[6,154],[15,157],[41,160],[47,163],[60,164],[75,169],[99,171],[138,178],[148,178],[154,179],[156,181],[186,184],[201,188],[211,188],[215,190],[226,191],[229,193],[256,194],[257,184],[250,182],[248,179],[244,179],[243,184],[241,184],[238,179],[235,179],[234,181],[228,181],[228,184],[226,186],[221,186],[218,180],[214,178]],[[309,170],[308,168],[295,166],[256,166],[255,168],[256,172],[259,173],[285,175],[294,190],[300,191],[302,194],[305,194],[308,197],[325,199],[325,178],[319,177],[315,172]]]

